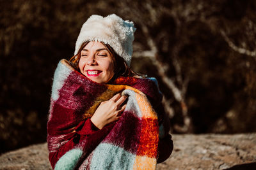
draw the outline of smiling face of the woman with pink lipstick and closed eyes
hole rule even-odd
[[[84,46],[78,66],[84,76],[97,83],[107,83],[114,76],[113,55],[100,42]]]

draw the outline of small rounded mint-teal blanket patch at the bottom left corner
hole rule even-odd
[[[65,153],[57,162],[54,170],[70,170],[76,167],[83,151],[79,149],[72,149]]]

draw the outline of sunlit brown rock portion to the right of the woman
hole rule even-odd
[[[157,169],[256,169],[256,134],[173,135],[173,145]]]

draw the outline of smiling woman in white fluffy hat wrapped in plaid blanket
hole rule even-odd
[[[172,153],[156,79],[130,66],[134,24],[92,15],[54,74],[47,124],[54,169],[156,169]]]

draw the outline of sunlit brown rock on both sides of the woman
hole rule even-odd
[[[173,134],[171,157],[157,169],[256,169],[254,134]],[[0,156],[0,169],[51,169],[47,143]]]

